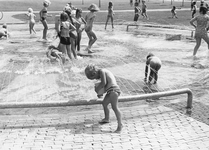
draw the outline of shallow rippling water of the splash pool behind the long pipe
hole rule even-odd
[[[49,44],[57,44],[54,30],[48,33],[51,43],[38,42],[41,31],[30,36],[25,26],[13,29],[9,40],[0,40],[0,102],[76,101],[95,99],[94,81],[84,75],[88,63],[111,70],[122,90],[122,96],[168,91],[188,87],[196,100],[207,100],[208,62],[207,45],[203,42],[197,58],[192,57],[195,42],[186,39],[189,31],[182,30],[181,40],[168,41],[168,29],[129,29],[116,26],[114,31],[104,31],[95,25],[98,41],[92,58],[67,62],[50,62],[45,55]],[[177,31],[169,30],[169,34]],[[181,32],[178,30],[178,32]],[[83,33],[81,49],[88,39]],[[85,52],[85,51],[84,51]],[[145,57],[148,52],[159,56],[163,62],[157,85],[143,83]]]

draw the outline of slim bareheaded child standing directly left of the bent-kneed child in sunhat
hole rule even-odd
[[[81,36],[82,36],[83,30],[85,29],[84,25],[86,24],[86,21],[81,16],[81,14],[82,14],[82,9],[77,9],[76,15],[75,15],[75,19],[77,21],[75,23],[76,31],[77,31],[77,39],[76,39],[75,47],[77,47],[77,51],[80,51]]]

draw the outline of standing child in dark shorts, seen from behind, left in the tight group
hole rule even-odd
[[[72,59],[71,56],[71,48],[70,48],[70,35],[69,33],[71,31],[76,30],[75,26],[73,26],[69,21],[68,21],[68,14],[66,12],[62,12],[60,15],[60,32],[59,32],[59,38],[60,38],[60,48],[62,50],[62,53],[66,56],[66,49],[67,49],[67,54],[70,59]],[[72,49],[73,54],[75,59],[77,59],[77,54]]]

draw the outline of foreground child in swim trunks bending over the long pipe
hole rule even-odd
[[[121,112],[118,108],[118,97],[120,95],[120,88],[117,85],[114,75],[107,69],[99,69],[94,65],[88,65],[85,68],[85,75],[90,80],[101,80],[101,83],[98,86],[95,86],[95,91],[99,93],[101,89],[104,88],[106,95],[102,102],[105,118],[100,121],[100,123],[109,123],[110,122],[110,112],[108,109],[109,103],[111,103],[112,109],[115,112],[118,127],[116,133],[120,133],[122,130],[122,121],[121,121]],[[98,95],[100,96],[100,95]]]

